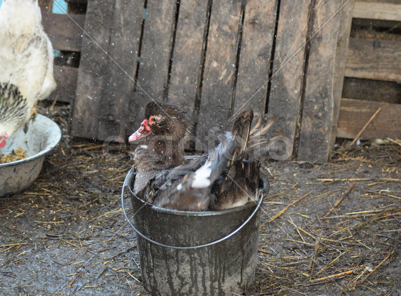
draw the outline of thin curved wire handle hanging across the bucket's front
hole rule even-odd
[[[147,237],[146,235],[144,235],[143,233],[141,233],[138,229],[136,229],[134,227],[134,225],[131,223],[130,219],[127,216],[127,212],[126,212],[126,208],[124,206],[124,189],[126,188],[126,186],[129,186],[128,182],[128,177],[131,175],[132,173],[132,168],[129,170],[126,179],[124,180],[124,184],[122,184],[122,190],[121,190],[121,208],[122,208],[122,212],[124,213],[124,216],[126,217],[128,224],[132,227],[132,229],[135,230],[135,232],[137,234],[139,234],[141,237],[143,237],[144,239],[146,239],[149,242],[152,242],[156,245],[162,246],[164,248],[170,248],[170,249],[178,249],[178,250],[189,250],[189,249],[198,249],[198,248],[204,248],[205,246],[210,246],[216,243],[219,243],[225,239],[228,239],[229,237],[233,236],[234,234],[236,234],[238,231],[241,230],[241,228],[243,228],[250,219],[252,219],[252,217],[256,214],[256,212],[258,211],[258,208],[261,206],[262,204],[262,200],[263,200],[263,196],[261,195],[258,204],[256,205],[254,211],[249,215],[249,217],[246,218],[245,221],[243,221],[243,223],[234,231],[230,232],[229,234],[227,234],[226,236],[219,238],[217,240],[213,240],[211,242],[208,243],[204,243],[204,244],[198,244],[198,245],[188,245],[188,246],[176,246],[176,245],[168,245],[168,244],[164,244],[161,242],[158,242],[156,240],[153,240],[152,238]]]

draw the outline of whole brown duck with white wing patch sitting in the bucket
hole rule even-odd
[[[158,148],[149,143],[154,142],[157,147],[155,137],[180,142],[180,137],[191,135],[193,121],[177,106],[149,104],[145,108],[145,119],[129,137],[129,141],[147,137],[146,144],[138,144],[134,152],[134,194],[154,206],[183,211],[223,210],[242,206],[259,196],[260,161],[253,153],[255,147],[264,144],[261,139],[271,126],[271,120],[258,116],[252,127],[253,111],[242,111],[230,132],[216,134],[218,144],[214,150],[189,161],[182,157],[183,145],[171,145],[175,147],[170,152],[171,159],[175,160],[168,167],[157,167],[149,165],[152,161],[157,163],[159,159],[155,156],[170,154],[159,151],[151,156]]]

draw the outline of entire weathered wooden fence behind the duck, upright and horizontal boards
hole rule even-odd
[[[274,114],[272,135],[290,138],[298,160],[327,161],[336,136],[355,137],[379,107],[361,137],[401,137],[401,41],[357,36],[366,19],[396,31],[396,0],[355,9],[349,0],[70,0],[68,8],[43,23],[55,48],[80,53],[79,68],[55,66],[52,95],[73,103],[74,136],[126,137],[154,99],[187,109],[200,139],[243,105]],[[383,94],[392,101],[374,100]]]

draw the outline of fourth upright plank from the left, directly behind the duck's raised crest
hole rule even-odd
[[[204,0],[180,4],[168,102],[181,106],[190,114],[200,87],[207,12],[208,2]]]

